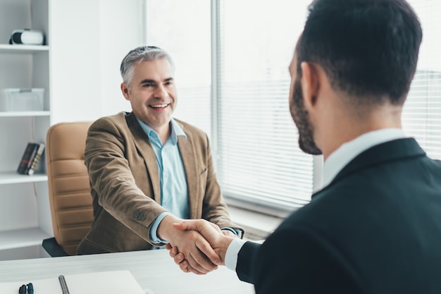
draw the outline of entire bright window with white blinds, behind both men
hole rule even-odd
[[[290,211],[309,202],[321,157],[300,151],[287,66],[310,0],[146,0],[148,44],[176,63],[175,113],[209,133],[228,201]],[[423,25],[403,127],[441,158],[441,3],[410,0]]]

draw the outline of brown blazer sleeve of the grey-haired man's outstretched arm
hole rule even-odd
[[[96,196],[99,205],[150,242],[150,225],[166,209],[139,189],[135,182],[131,169],[137,160],[130,162],[126,158],[136,153],[136,148],[128,145],[131,136],[128,128],[111,119],[100,118],[89,128],[85,164],[92,195]],[[148,181],[147,176],[145,179]]]

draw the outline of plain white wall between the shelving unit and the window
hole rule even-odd
[[[120,61],[144,39],[144,0],[52,0],[51,124],[89,121],[130,104],[120,94]]]

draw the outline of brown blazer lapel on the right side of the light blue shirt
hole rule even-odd
[[[181,128],[183,129],[182,125]],[[182,158],[182,164],[184,165],[185,169],[185,176],[187,177],[190,218],[194,219],[197,217],[197,206],[199,203],[199,195],[197,195],[199,174],[196,162],[197,156],[193,148],[192,133],[185,131],[185,135],[187,135],[187,139],[185,139],[183,136],[178,136],[178,147],[180,156]]]

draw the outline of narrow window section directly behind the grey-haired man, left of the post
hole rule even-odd
[[[147,0],[147,44],[175,62],[178,106],[174,117],[211,135],[210,1]]]

